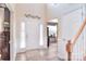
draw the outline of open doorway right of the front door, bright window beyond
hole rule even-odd
[[[58,23],[48,22],[47,23],[47,47],[49,48],[51,43],[57,43],[57,40],[58,40]]]

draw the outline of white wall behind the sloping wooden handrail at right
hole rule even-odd
[[[60,21],[60,37],[61,40],[58,42],[58,55],[61,59],[66,60],[66,51],[65,51],[65,44],[67,40],[72,39],[76,31],[78,30],[81,24],[83,23],[82,17],[82,9],[77,9],[75,11],[70,12],[69,14],[65,14],[61,17]],[[78,40],[76,41],[76,44],[73,49],[73,57],[72,60],[82,60],[83,52],[84,52],[84,34],[81,35]]]

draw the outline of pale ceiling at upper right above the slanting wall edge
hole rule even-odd
[[[72,12],[82,7],[83,4],[79,3],[48,3],[47,4],[48,20],[61,17],[65,13]]]

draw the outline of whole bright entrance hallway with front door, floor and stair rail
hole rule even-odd
[[[86,60],[86,4],[0,5],[0,60]]]

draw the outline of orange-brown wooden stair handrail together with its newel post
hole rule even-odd
[[[78,39],[82,31],[84,30],[85,25],[86,25],[86,17],[85,17],[85,21],[83,22],[83,24],[81,25],[78,31],[74,36],[74,38],[72,40],[69,40],[67,43],[66,43],[67,61],[72,60],[73,46],[76,43],[76,40]]]

